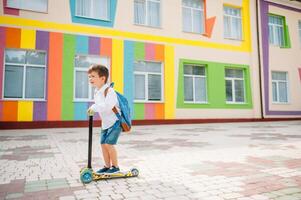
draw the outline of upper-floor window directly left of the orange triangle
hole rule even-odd
[[[182,0],[183,31],[204,33],[203,0]]]

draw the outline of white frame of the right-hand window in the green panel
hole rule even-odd
[[[242,78],[236,78],[236,77],[226,77],[226,70],[227,69],[233,69],[233,70],[241,70],[243,72],[243,77]],[[245,69],[243,68],[232,68],[232,67],[226,67],[225,68],[225,94],[226,94],[226,104],[246,104],[246,79],[245,79]],[[227,88],[226,88],[226,81],[230,80],[231,81],[231,89],[232,89],[232,101],[227,100]],[[243,81],[243,89],[244,89],[244,101],[243,102],[238,102],[236,101],[236,90],[235,90],[235,80],[242,80]]]

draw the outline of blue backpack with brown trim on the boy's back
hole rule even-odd
[[[114,83],[111,83],[110,87],[113,88]],[[105,96],[107,96],[108,89],[109,89],[109,87],[105,90]],[[123,132],[129,132],[131,130],[131,127],[132,127],[132,118],[131,118],[131,110],[130,110],[128,100],[125,98],[125,96],[123,96],[119,92],[117,92],[117,91],[115,91],[115,92],[117,94],[117,100],[118,100],[118,103],[119,103],[121,114],[119,114],[119,112],[117,111],[117,108],[115,106],[112,110],[116,114],[116,117],[120,121],[122,131]]]

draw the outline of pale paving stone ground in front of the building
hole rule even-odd
[[[139,177],[84,185],[87,140],[88,128],[0,130],[0,199],[301,200],[301,121],[135,126],[117,149]]]

